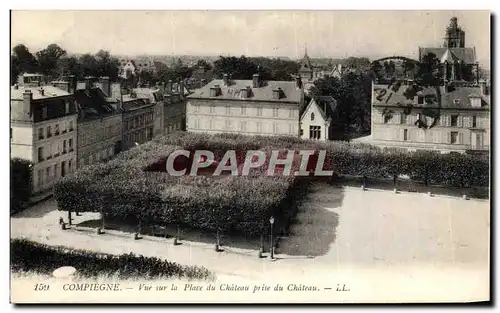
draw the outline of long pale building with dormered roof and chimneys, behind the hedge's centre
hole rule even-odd
[[[213,80],[189,95],[187,130],[259,135],[299,136],[299,112],[304,101],[300,76],[296,81]]]

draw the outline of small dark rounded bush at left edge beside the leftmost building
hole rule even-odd
[[[28,160],[10,160],[10,214],[25,208],[32,195],[32,163]]]

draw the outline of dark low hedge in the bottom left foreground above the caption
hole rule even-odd
[[[48,246],[26,239],[10,241],[11,269],[15,272],[34,271],[51,275],[61,266],[73,266],[83,277],[117,275],[118,278],[187,278],[213,279],[214,275],[203,267],[182,266],[159,258],[136,256],[132,253],[112,255]]]

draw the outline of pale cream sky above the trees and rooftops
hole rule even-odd
[[[11,45],[36,52],[51,43],[70,53],[119,55],[304,55],[418,58],[442,46],[451,17],[490,63],[488,11],[12,11]]]

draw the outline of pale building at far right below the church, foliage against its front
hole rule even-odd
[[[405,96],[408,88],[373,85],[373,143],[442,152],[489,149],[490,103],[481,87],[424,88],[413,99]]]

